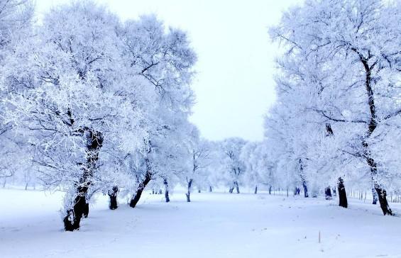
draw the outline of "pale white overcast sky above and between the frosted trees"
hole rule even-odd
[[[68,0],[36,0],[39,15]],[[263,138],[263,114],[275,101],[268,26],[301,0],[97,0],[121,18],[156,13],[187,31],[198,55],[192,122],[204,138]]]

